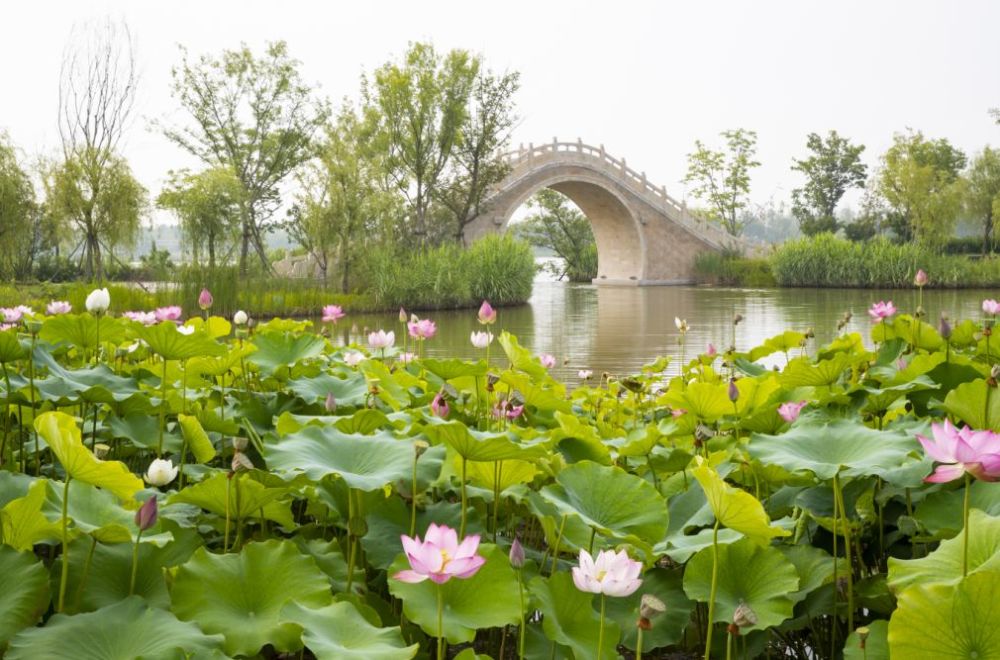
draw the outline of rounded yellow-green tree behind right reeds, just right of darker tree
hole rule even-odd
[[[961,211],[965,154],[948,140],[919,131],[898,133],[882,156],[878,192],[891,213],[889,227],[903,240],[941,245]]]

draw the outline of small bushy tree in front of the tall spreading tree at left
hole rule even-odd
[[[208,252],[208,267],[215,268],[220,252],[236,241],[243,208],[243,185],[225,166],[192,174],[170,172],[170,180],[156,198],[160,208],[173,211],[181,221],[185,242],[194,260]],[[225,261],[225,259],[223,259]]]

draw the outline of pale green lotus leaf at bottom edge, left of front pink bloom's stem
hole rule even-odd
[[[352,603],[306,608],[292,601],[281,620],[302,628],[302,641],[318,660],[409,660],[420,649],[407,646],[398,627],[373,626]]]

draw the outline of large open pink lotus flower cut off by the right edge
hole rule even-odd
[[[993,431],[955,428],[951,422],[931,424],[934,440],[917,435],[927,455],[941,463],[924,481],[945,483],[968,472],[976,479],[1000,479],[1000,436]]]

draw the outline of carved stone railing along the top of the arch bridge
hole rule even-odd
[[[576,154],[599,160],[605,167],[614,170],[619,177],[625,179],[634,191],[645,195],[648,203],[664,210],[672,211],[671,215],[680,224],[706,236],[715,243],[720,243],[725,247],[730,247],[741,242],[745,243],[745,240],[737,239],[712,223],[692,215],[687,209],[687,204],[678,202],[667,194],[666,186],[652,184],[646,177],[645,172],[638,172],[632,169],[625,162],[624,158],[615,158],[604,149],[603,144],[594,146],[586,144],[580,139],[577,139],[576,142],[560,142],[553,138],[552,142],[539,145],[528,144],[525,147],[522,144],[516,150],[501,154],[501,157],[510,165],[513,170],[512,173],[516,173],[517,170],[522,168],[531,170],[536,163],[541,165],[553,156],[562,154]]]

